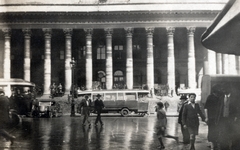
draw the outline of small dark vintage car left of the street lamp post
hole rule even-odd
[[[62,116],[62,107],[52,99],[36,99],[32,105],[32,117],[60,117]]]

